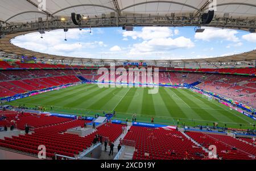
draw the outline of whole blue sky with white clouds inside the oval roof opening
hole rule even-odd
[[[15,37],[13,44],[52,55],[97,59],[194,59],[233,55],[256,49],[256,34],[194,27],[121,27],[63,30]]]

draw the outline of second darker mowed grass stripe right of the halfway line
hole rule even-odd
[[[155,106],[152,94],[148,94],[148,88],[143,89],[142,114],[155,115]]]

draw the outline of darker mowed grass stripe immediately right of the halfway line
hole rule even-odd
[[[122,101],[117,105],[117,107],[115,107],[114,110],[118,111],[118,112],[128,112],[129,106],[130,106],[131,102],[133,101],[136,91],[137,91],[137,89],[131,88],[127,92],[126,96],[122,99]],[[120,98],[122,98],[122,97],[120,97]]]

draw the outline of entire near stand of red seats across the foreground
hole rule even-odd
[[[47,148],[46,156],[51,159],[55,154],[76,157],[90,147],[93,139],[101,135],[111,142],[118,140],[123,134],[123,124],[104,123],[92,133],[81,137],[67,133],[76,127],[85,127],[90,120],[59,118],[56,116],[0,111],[6,116],[0,121],[0,126],[16,124],[19,130],[25,130],[25,124],[30,126],[31,134],[4,137],[0,139],[0,147],[13,152],[37,155],[39,145]],[[13,122],[15,120],[15,122]],[[239,137],[238,139],[208,132],[182,132],[168,127],[131,126],[125,132],[121,145],[133,146],[133,160],[252,160],[255,159],[255,140]],[[209,158],[207,149],[215,145],[217,157]],[[61,157],[57,157],[61,159]]]

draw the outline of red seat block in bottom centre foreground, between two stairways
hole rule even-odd
[[[202,148],[176,130],[132,126],[124,144],[127,140],[135,141],[134,160],[198,160],[206,156]]]

